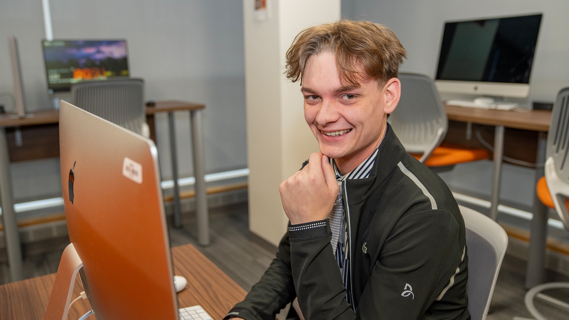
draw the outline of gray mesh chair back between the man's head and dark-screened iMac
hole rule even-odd
[[[434,82],[424,75],[399,73],[401,99],[387,122],[409,153],[426,161],[447,134],[448,120]]]

